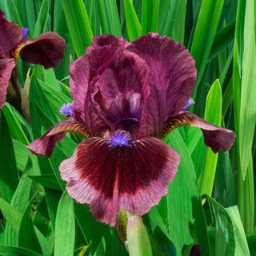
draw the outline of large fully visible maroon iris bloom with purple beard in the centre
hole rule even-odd
[[[161,140],[166,134],[196,126],[214,152],[234,143],[233,131],[184,110],[193,102],[196,75],[189,51],[170,38],[95,36],[70,66],[74,102],[62,106],[66,118],[27,147],[50,157],[66,132],[82,134],[85,139],[59,166],[70,196],[110,226],[119,210],[146,214],[178,170],[179,154]]]

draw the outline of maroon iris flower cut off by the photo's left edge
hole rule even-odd
[[[27,29],[6,20],[0,10],[0,109],[7,100],[20,107],[18,83],[18,55],[23,61],[40,64],[46,69],[58,66],[64,57],[66,44],[57,33],[47,32],[38,38],[26,38]]]

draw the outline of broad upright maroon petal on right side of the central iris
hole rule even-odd
[[[126,49],[138,54],[149,66],[148,114],[142,116],[142,122],[147,128],[144,136],[158,137],[163,124],[190,100],[197,75],[194,59],[179,42],[154,33],[134,39]]]

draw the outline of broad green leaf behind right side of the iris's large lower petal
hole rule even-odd
[[[193,212],[201,226],[200,247],[207,255],[209,252],[209,242],[206,232],[206,223],[203,219],[202,204],[198,187],[194,165],[186,145],[178,130],[173,130],[164,141],[180,154],[180,164],[174,181],[168,186],[168,222],[170,238],[174,243],[177,254],[182,253],[184,244],[191,244],[193,239],[190,234],[189,222],[193,220]]]

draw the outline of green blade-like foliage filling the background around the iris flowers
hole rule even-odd
[[[196,128],[165,138],[181,164],[169,194],[143,216],[153,254],[189,255],[198,244],[202,255],[256,255],[254,0],[2,0],[0,9],[28,27],[29,37],[52,30],[66,40],[57,68],[18,62],[22,86],[30,85],[24,96],[30,122],[8,103],[0,112],[1,255],[128,255],[114,229],[65,192],[58,166],[81,138],[68,135],[49,159],[36,158],[26,145],[62,118],[58,110],[72,101],[70,62],[94,34],[131,41],[149,31],[181,42],[194,57],[190,110],[237,134],[231,150],[218,154]]]

